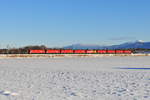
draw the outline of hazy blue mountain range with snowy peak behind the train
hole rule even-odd
[[[64,47],[64,49],[130,49],[130,48],[150,49],[150,42],[143,42],[141,40],[138,40],[135,42],[127,42],[120,45],[112,45],[112,46],[74,44]]]

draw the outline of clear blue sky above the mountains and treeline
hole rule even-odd
[[[150,0],[0,0],[0,47],[150,41]]]

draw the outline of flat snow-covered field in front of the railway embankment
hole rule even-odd
[[[0,100],[150,100],[150,56],[1,58]]]

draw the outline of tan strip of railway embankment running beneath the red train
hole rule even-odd
[[[150,54],[0,54],[0,58],[60,58],[60,57],[103,57],[103,56],[150,56]]]

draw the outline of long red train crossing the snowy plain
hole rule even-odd
[[[29,54],[132,54],[132,50],[82,50],[82,49],[47,49],[47,50],[32,50]]]

